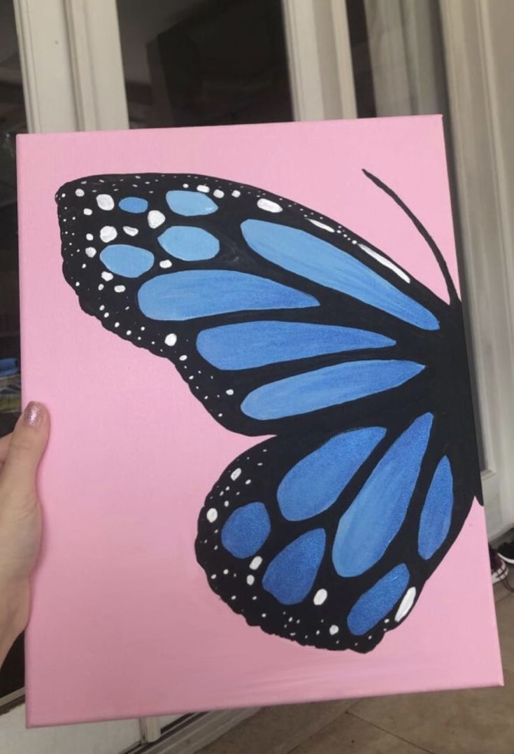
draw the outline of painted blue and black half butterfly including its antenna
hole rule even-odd
[[[427,229],[365,173],[447,301],[268,188],[142,173],[56,195],[84,312],[259,437],[205,490],[191,547],[211,590],[250,626],[357,652],[405,621],[481,498],[460,299]]]

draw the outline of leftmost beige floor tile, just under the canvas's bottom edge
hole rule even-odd
[[[344,713],[353,700],[266,707],[200,754],[286,754]]]

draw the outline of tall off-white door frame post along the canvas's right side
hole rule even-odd
[[[488,468],[484,476],[485,513],[493,538],[514,521],[514,249],[506,211],[509,195],[501,161],[502,142],[494,123],[498,94],[490,65],[494,47],[486,18],[491,4],[452,0],[441,3],[440,8]]]

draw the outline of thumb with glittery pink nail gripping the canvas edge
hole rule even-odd
[[[47,446],[50,422],[41,403],[29,403],[14,428],[2,470],[2,486],[25,496],[35,492],[35,474]]]

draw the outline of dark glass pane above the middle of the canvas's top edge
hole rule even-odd
[[[118,0],[130,127],[292,120],[280,0]]]

